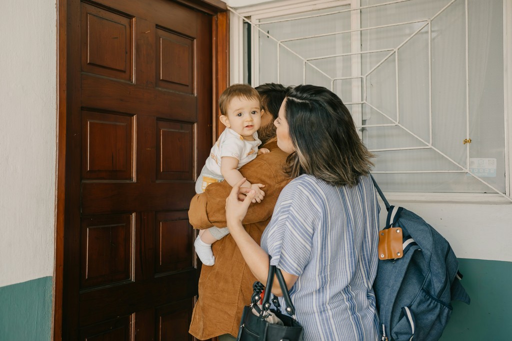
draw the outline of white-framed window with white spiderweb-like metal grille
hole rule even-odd
[[[512,201],[512,15],[503,12],[510,3],[318,0],[230,8],[232,44],[240,47],[231,54],[234,81],[330,88],[377,155],[374,174],[387,192]]]

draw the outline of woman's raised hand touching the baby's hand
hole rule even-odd
[[[242,220],[247,214],[247,209],[256,195],[256,191],[247,187],[240,187],[245,183],[245,177],[241,179],[231,189],[231,193],[226,198],[226,222],[229,232],[237,226],[242,226]],[[245,194],[243,200],[239,196]]]

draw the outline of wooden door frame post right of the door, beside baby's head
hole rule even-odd
[[[219,96],[229,85],[229,12],[217,14],[214,22],[214,140],[224,131],[224,125],[219,120]],[[216,36],[216,37],[215,37]],[[212,141],[212,144],[215,141]]]

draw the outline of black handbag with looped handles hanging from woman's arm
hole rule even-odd
[[[271,309],[270,296],[274,274],[278,278],[279,285],[283,291],[283,297],[286,301],[286,312],[280,311],[280,304],[277,298],[272,299],[272,303],[277,309]],[[275,265],[270,265],[268,270],[267,290],[263,297],[260,307],[258,301],[261,299],[263,285],[255,282],[252,286],[254,292],[251,296],[251,304],[244,307],[240,329],[238,332],[238,341],[302,341],[303,328],[295,320],[295,307],[291,303],[290,293],[286,287],[283,274]]]

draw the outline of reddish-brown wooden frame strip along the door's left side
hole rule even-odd
[[[57,161],[55,174],[55,264],[53,273],[52,339],[62,339],[64,266],[64,209],[66,189],[67,113],[67,18],[68,0],[57,0]]]

